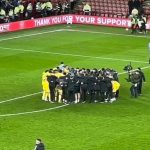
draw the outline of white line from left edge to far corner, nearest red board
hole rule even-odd
[[[23,35],[19,35],[19,36],[0,39],[0,42],[13,40],[13,39],[19,39],[19,38],[23,38],[23,37],[30,37],[30,36],[35,36],[35,35],[41,35],[41,34],[47,34],[47,33],[53,33],[53,32],[60,32],[60,31],[63,31],[63,29],[52,30],[52,31],[44,31],[44,32],[32,33],[32,34],[23,34]]]

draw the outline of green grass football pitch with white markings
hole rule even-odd
[[[149,150],[149,34],[118,28],[58,25],[0,36],[0,147],[32,150]],[[41,100],[41,76],[60,62],[119,73],[114,103],[50,104]],[[143,68],[143,94],[131,98],[124,66]]]

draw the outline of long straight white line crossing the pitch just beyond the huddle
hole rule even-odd
[[[134,62],[134,63],[144,63],[148,64],[145,61],[138,61],[138,60],[128,60],[128,59],[119,59],[119,58],[109,58],[109,57],[95,57],[95,56],[88,56],[88,55],[78,55],[78,54],[71,54],[71,53],[55,53],[55,52],[46,52],[40,50],[31,50],[31,49],[19,49],[19,48],[10,48],[10,47],[0,47],[1,49],[7,49],[10,51],[22,51],[22,52],[32,52],[32,53],[41,53],[41,54],[52,54],[52,55],[60,55],[60,56],[72,56],[72,57],[83,57],[83,58],[94,58],[94,59],[103,59],[103,60],[112,60],[112,61],[124,61],[124,62]]]

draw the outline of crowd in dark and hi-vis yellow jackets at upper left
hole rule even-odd
[[[76,0],[1,0],[0,23],[70,13]]]

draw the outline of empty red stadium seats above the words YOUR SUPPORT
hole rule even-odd
[[[92,7],[91,15],[101,17],[127,18],[129,16],[128,0],[86,0],[76,6],[76,14],[83,14],[83,5],[88,2]],[[150,0],[141,0],[140,12],[150,18]]]

